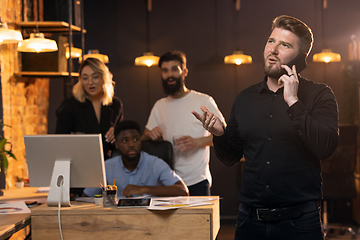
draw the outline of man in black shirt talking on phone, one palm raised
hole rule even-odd
[[[338,145],[337,103],[328,86],[285,65],[308,56],[312,43],[302,21],[277,17],[264,49],[266,76],[237,96],[226,129],[206,107],[193,111],[222,162],[245,158],[235,239],[324,238],[320,160]]]

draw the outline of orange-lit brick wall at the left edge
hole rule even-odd
[[[0,0],[1,21],[15,28],[21,21],[21,0]],[[18,76],[20,64],[17,44],[0,45],[1,86],[4,137],[12,143],[17,161],[9,158],[6,185],[15,185],[15,177],[28,177],[24,135],[47,133],[49,79]]]

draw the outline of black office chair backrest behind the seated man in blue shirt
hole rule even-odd
[[[163,159],[173,169],[173,146],[169,141],[141,141],[141,150]],[[111,157],[118,155],[119,150],[114,149]]]

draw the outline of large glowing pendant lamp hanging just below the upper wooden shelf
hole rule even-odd
[[[20,52],[55,52],[58,50],[55,40],[46,39],[43,33],[31,33],[30,38],[18,44]]]

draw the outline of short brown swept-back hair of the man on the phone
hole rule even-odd
[[[300,53],[309,55],[314,36],[311,29],[304,22],[291,16],[281,15],[274,19],[271,30],[274,30],[274,28],[283,28],[298,36],[300,38]]]

